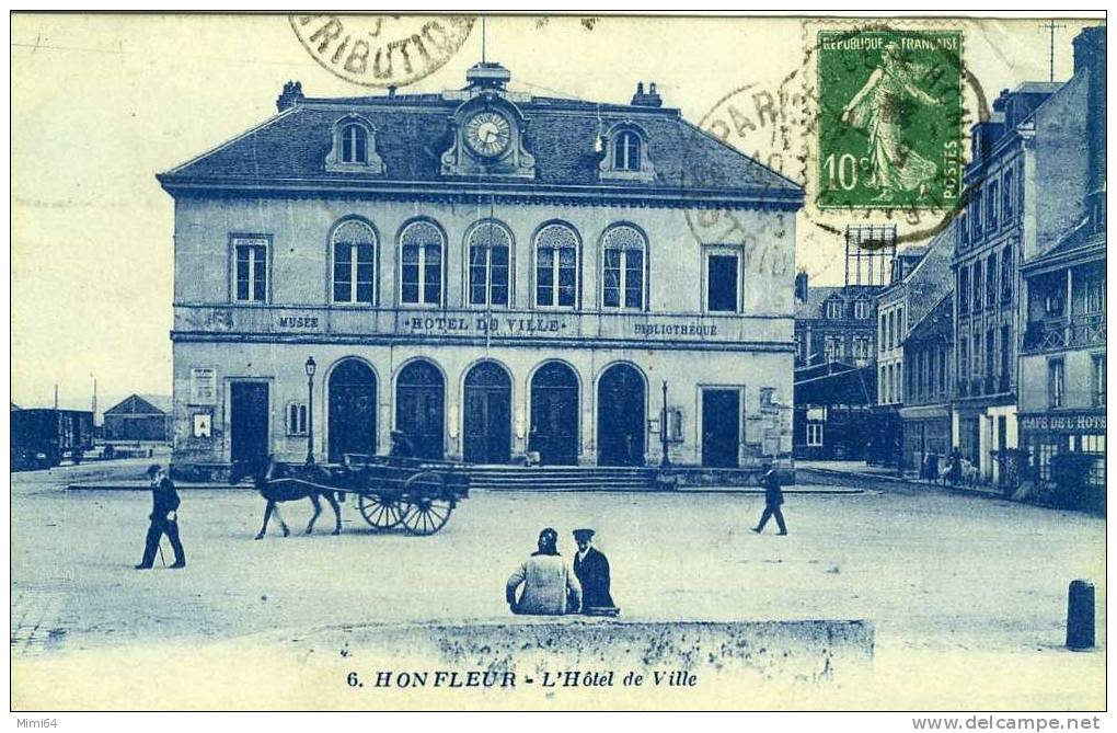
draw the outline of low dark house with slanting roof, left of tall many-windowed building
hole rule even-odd
[[[954,294],[947,293],[904,337],[904,466],[918,470],[927,454],[948,456],[954,447]]]

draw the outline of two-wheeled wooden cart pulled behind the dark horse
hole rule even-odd
[[[356,495],[361,516],[374,530],[402,525],[411,534],[435,534],[469,496],[469,475],[448,463],[346,454],[331,475],[338,491]]]

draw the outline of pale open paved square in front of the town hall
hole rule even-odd
[[[131,478],[145,463],[114,470]],[[82,472],[104,478],[89,473],[97,470],[105,472],[13,477],[16,660],[332,625],[506,618],[504,581],[540,529],[557,529],[570,554],[570,531],[593,526],[626,619],[865,618],[876,626],[878,658],[900,672],[945,654],[962,678],[972,664],[991,688],[1005,680],[989,675],[1020,680],[1029,665],[1085,675],[1082,701],[1104,684],[1100,654],[1060,650],[1067,584],[1076,578],[1096,584],[1105,645],[1098,517],[868,487],[789,495],[791,534],[781,537],[775,527],[760,536],[747,530],[762,508],[755,494],[475,492],[429,537],[372,533],[351,504],[342,535],[305,536],[304,502],[283,507],[296,530],[290,537],[273,527],[256,542],[264,504],[255,493],[193,491],[183,492],[180,512],[189,567],[164,570],[156,561],[142,572],[132,565],[149,495],[63,491]],[[325,512],[319,527],[328,530]]]

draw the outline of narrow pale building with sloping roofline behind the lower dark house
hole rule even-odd
[[[895,465],[903,455],[904,339],[909,325],[923,318],[951,287],[953,227],[948,223],[926,245],[899,250],[891,282],[877,295],[877,403],[869,426],[870,461]]]

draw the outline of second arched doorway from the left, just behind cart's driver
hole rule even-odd
[[[413,361],[395,380],[395,429],[414,447],[416,458],[446,455],[446,381],[429,361]]]

